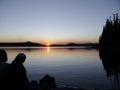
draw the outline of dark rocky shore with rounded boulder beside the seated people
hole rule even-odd
[[[29,83],[29,90],[120,90],[120,89],[97,89],[97,88],[75,88],[59,86],[55,82],[55,78],[45,75],[39,81],[33,80]]]

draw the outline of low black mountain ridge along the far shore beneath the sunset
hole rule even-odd
[[[40,43],[35,43],[35,42],[1,42],[0,47],[46,47],[47,45],[43,45]],[[96,48],[98,46],[98,43],[68,43],[68,44],[52,44],[49,45],[49,47],[74,47],[74,46],[84,46],[84,47],[90,47],[90,48]]]

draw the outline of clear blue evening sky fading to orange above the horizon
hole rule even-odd
[[[98,42],[113,13],[120,0],[0,0],[0,42]]]

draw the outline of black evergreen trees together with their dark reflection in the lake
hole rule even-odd
[[[120,18],[118,13],[109,17],[103,27],[99,39],[99,55],[102,60],[106,76],[116,82],[119,87],[120,75]]]

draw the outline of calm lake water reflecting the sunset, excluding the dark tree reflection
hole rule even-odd
[[[28,79],[39,80],[44,75],[54,76],[57,85],[87,88],[119,88],[119,84],[106,76],[99,51],[83,48],[4,48],[8,63],[23,52]]]

